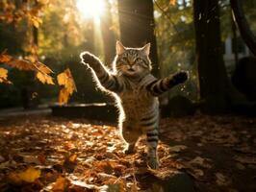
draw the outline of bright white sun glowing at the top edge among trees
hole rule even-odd
[[[77,0],[76,6],[85,18],[93,18],[95,22],[99,22],[104,12],[104,0]]]

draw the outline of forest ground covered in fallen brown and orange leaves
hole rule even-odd
[[[144,138],[137,154],[124,155],[116,127],[94,123],[2,119],[0,191],[163,191],[147,179],[177,171],[189,174],[197,191],[256,191],[255,118],[163,119],[157,171],[146,167]]]

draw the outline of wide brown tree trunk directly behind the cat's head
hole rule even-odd
[[[141,47],[147,42],[150,42],[150,59],[153,63],[152,72],[154,75],[159,76],[153,12],[152,0],[118,1],[120,38],[122,43],[129,47]]]

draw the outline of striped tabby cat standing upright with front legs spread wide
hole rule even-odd
[[[127,144],[125,153],[134,153],[136,142],[145,133],[147,165],[157,169],[158,96],[174,85],[186,82],[188,74],[181,71],[159,80],[151,75],[150,43],[141,48],[127,48],[120,41],[116,41],[115,49],[116,56],[111,72],[89,52],[81,53],[80,58],[84,64],[89,65],[98,86],[113,93],[116,98],[120,110],[120,134]]]

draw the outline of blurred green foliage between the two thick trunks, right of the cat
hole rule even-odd
[[[177,70],[190,71],[190,81],[185,86],[175,87],[169,97],[181,94],[196,99],[197,85],[194,63],[194,29],[192,2],[155,2],[156,36],[162,76]]]

